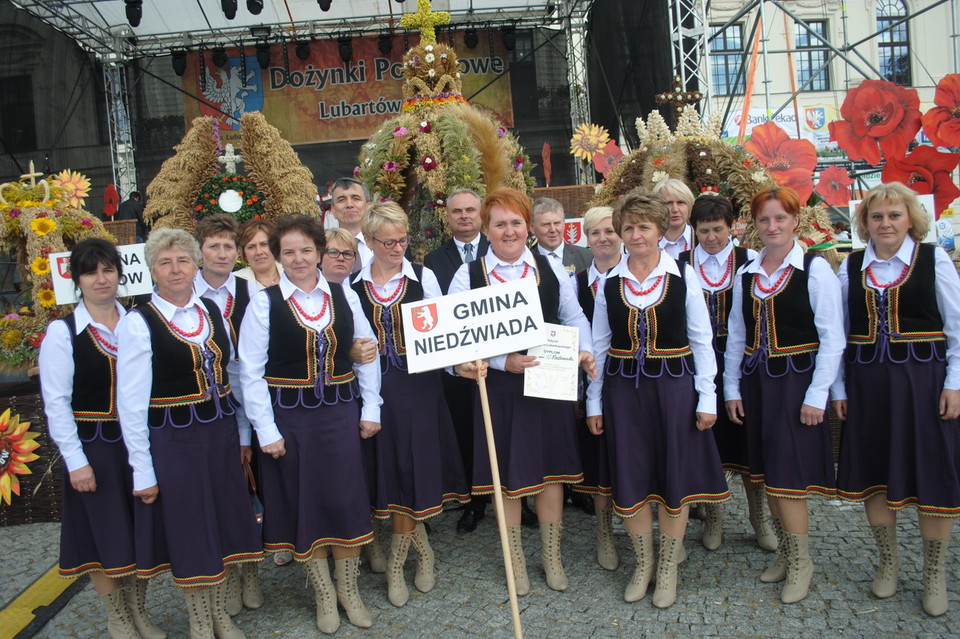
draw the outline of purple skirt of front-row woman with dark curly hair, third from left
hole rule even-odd
[[[314,408],[274,405],[273,414],[286,455],[260,453],[264,547],[307,561],[320,546],[368,543],[373,528],[359,400]]]

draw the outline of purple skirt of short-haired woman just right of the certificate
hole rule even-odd
[[[608,374],[603,380],[613,510],[632,517],[649,503],[679,515],[688,504],[730,499],[713,435],[697,429],[693,376]]]

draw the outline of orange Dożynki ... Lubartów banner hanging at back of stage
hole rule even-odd
[[[504,125],[513,126],[509,74],[496,79],[508,70],[509,55],[499,37],[493,38],[491,47],[483,36],[481,33],[479,46],[468,49],[462,33],[454,35],[463,95],[471,99],[479,91],[471,102],[491,109]],[[441,34],[444,43],[448,38]],[[213,63],[209,49],[202,52],[202,62],[201,53],[191,51],[183,74],[187,126],[199,115],[214,116],[220,122],[223,142],[239,148],[240,116],[262,111],[291,144],[366,139],[381,123],[400,113],[403,55],[407,46],[419,41],[419,35],[410,35],[407,43],[404,39],[403,35],[394,36],[393,50],[384,55],[377,36],[353,38],[347,63],[340,58],[336,40],[310,42],[306,60],[297,57],[293,41],[272,44],[267,69],[257,62],[252,42],[244,45],[242,57],[239,47],[227,49],[223,68]]]

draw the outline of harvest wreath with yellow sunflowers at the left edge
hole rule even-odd
[[[53,277],[60,273],[50,254],[91,237],[116,241],[99,219],[80,208],[90,188],[85,176],[67,169],[48,179],[37,177],[42,174],[31,164],[22,180],[0,185],[0,250],[17,256],[24,290],[23,299],[0,311],[0,370],[36,366],[47,324],[73,308],[56,303]]]

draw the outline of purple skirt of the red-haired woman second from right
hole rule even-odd
[[[768,495],[805,498],[836,494],[830,425],[800,423],[800,407],[813,379],[789,370],[773,377],[758,366],[740,379],[745,413],[747,466],[750,477],[766,484]]]

